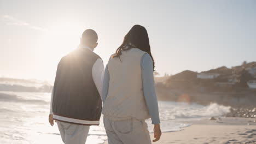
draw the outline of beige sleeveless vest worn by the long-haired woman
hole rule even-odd
[[[102,113],[112,118],[150,118],[143,94],[141,58],[147,53],[137,48],[122,51],[120,59],[108,62],[109,89]]]

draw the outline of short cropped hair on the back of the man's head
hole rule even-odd
[[[92,29],[86,29],[81,38],[81,43],[91,45],[96,44],[98,40],[97,33]]]

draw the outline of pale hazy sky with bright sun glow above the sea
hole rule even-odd
[[[146,27],[160,75],[256,61],[256,1],[0,0],[0,77],[54,81],[85,29],[107,64],[133,25]]]

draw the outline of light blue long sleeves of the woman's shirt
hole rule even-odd
[[[154,74],[153,74],[153,61],[148,53],[144,54],[141,58],[141,69],[142,69],[142,83],[143,93],[148,107],[149,115],[152,119],[152,124],[159,124],[159,111],[158,111],[158,99],[155,93]],[[102,100],[105,102],[108,95],[109,88],[109,71],[108,65],[105,69],[103,88],[102,88]]]

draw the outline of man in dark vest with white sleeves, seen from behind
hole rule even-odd
[[[51,95],[49,123],[56,121],[62,141],[84,144],[90,125],[99,125],[104,65],[94,53],[97,33],[87,29],[77,50],[62,57]]]

